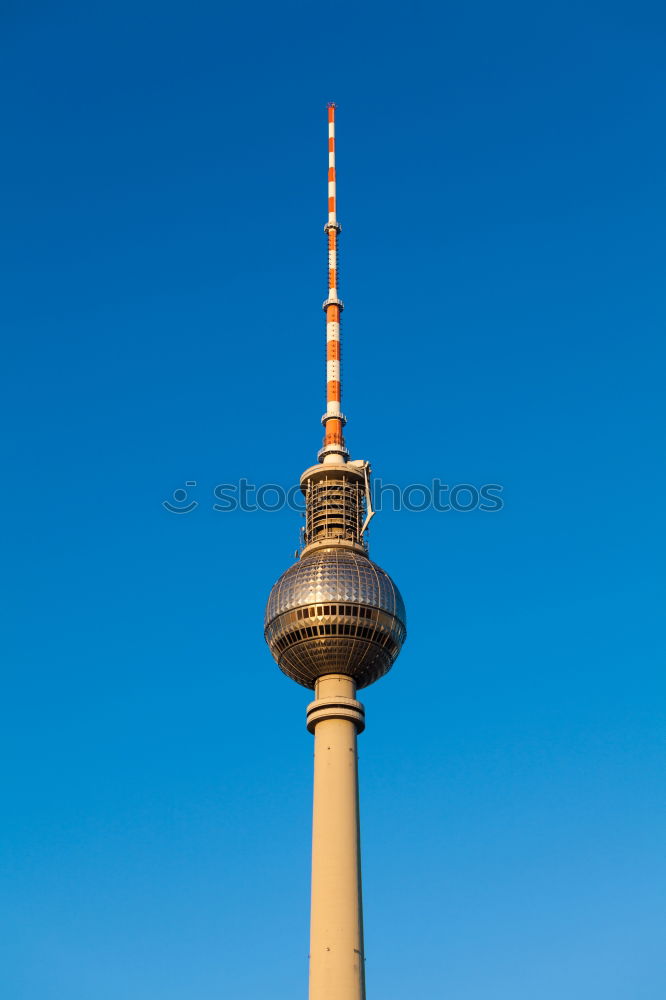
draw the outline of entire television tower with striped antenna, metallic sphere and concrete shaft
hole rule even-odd
[[[335,105],[328,105],[328,297],[324,446],[301,476],[304,547],[266,606],[264,635],[279,668],[314,688],[310,1000],[365,1000],[356,736],[359,688],[393,666],[406,636],[405,606],[368,558],[370,465],[350,461],[340,408],[340,315]]]

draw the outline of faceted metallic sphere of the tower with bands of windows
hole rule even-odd
[[[305,553],[273,586],[264,634],[283,673],[313,688],[347,674],[359,688],[393,666],[406,635],[405,605],[388,573],[342,545]]]

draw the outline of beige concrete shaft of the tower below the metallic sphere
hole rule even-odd
[[[365,1000],[356,684],[327,674],[308,706],[314,732],[309,1000]]]

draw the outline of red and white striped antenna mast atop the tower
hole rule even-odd
[[[319,452],[320,462],[326,464],[346,462],[349,457],[342,433],[346,419],[340,409],[342,401],[340,314],[344,309],[338,296],[338,237],[341,229],[337,217],[335,177],[335,104],[331,103],[328,105],[328,221],[324,226],[324,232],[328,239],[328,298],[324,302],[324,312],[326,313],[326,413],[321,418],[326,433],[324,447]]]

